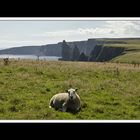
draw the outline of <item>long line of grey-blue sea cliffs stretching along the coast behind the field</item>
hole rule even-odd
[[[126,39],[127,40],[127,39]],[[121,47],[108,47],[104,46],[106,42],[111,43],[126,43],[123,39],[88,39],[86,41],[74,41],[66,42],[69,46],[70,56],[68,60],[73,60],[74,48],[75,46],[78,49],[78,55],[82,56],[81,58],[86,57],[87,61],[108,61],[112,58],[121,55],[124,51],[124,48]],[[62,53],[63,52],[63,53]],[[63,42],[57,44],[48,44],[41,46],[23,46],[17,48],[10,48],[5,50],[0,50],[0,54],[18,54],[18,55],[46,55],[46,56],[58,56],[63,57],[67,56],[64,54]],[[82,54],[82,55],[81,55]],[[76,57],[76,56],[75,56]],[[88,58],[88,59],[87,59]],[[64,60],[64,59],[62,59]],[[76,58],[76,60],[81,60]]]

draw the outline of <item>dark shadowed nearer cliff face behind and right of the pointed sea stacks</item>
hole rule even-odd
[[[71,50],[74,49],[74,44],[78,47],[80,50],[80,56],[78,61],[109,61],[113,59],[116,56],[119,56],[123,54],[124,48],[123,47],[109,47],[109,46],[104,46],[104,41],[99,41],[96,39],[89,39],[88,41],[82,42],[73,42],[73,43],[67,43],[67,46],[69,46],[69,54],[70,57],[73,56],[71,53]],[[63,46],[63,44],[62,44]],[[65,48],[65,47],[64,47]],[[63,49],[64,49],[63,48]],[[66,48],[65,48],[66,49]],[[64,51],[62,51],[62,60],[66,60],[63,55],[65,55]],[[68,56],[68,55],[67,55]],[[66,61],[70,61],[73,59],[67,59]],[[73,60],[75,61],[75,60]]]

